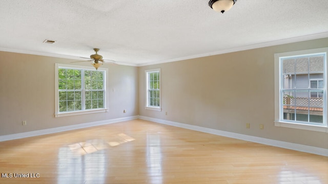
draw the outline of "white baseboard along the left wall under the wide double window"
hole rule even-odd
[[[45,135],[45,134],[51,134],[51,133],[57,133],[57,132],[64,132],[64,131],[68,131],[68,130],[83,129],[83,128],[87,128],[87,127],[112,124],[114,122],[127,121],[127,120],[132,120],[132,119],[137,119],[137,118],[138,118],[138,116],[129,116],[129,117],[116,118],[116,119],[108,119],[108,120],[103,120],[103,121],[88,122],[86,124],[77,124],[77,125],[70,125],[70,126],[65,126],[65,127],[36,130],[36,131],[31,131],[31,132],[2,135],[2,136],[0,136],[0,141],[32,137],[32,136],[37,136],[37,135]]]

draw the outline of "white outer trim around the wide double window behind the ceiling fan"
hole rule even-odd
[[[91,114],[91,113],[100,113],[100,112],[108,112],[107,108],[107,92],[106,92],[106,78],[108,75],[108,69],[107,68],[98,68],[98,70],[105,71],[105,108],[104,109],[91,109],[91,110],[84,110],[84,111],[74,111],[74,112],[59,112],[59,104],[58,104],[58,68],[59,67],[65,67],[65,68],[73,68],[73,69],[88,69],[88,70],[95,70],[94,67],[87,67],[87,66],[77,66],[77,65],[67,65],[67,64],[55,64],[55,117],[64,117],[64,116],[73,116],[73,115],[82,115],[82,114]]]

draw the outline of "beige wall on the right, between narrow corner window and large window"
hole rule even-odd
[[[274,54],[322,47],[328,38],[140,67],[139,115],[328,149],[328,133],[274,126]],[[145,70],[155,68],[161,112],[145,109]]]

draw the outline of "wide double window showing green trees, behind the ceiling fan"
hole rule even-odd
[[[56,64],[55,117],[106,112],[106,72]]]

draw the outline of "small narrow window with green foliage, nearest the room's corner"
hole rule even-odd
[[[160,111],[160,69],[146,70],[146,109]]]

